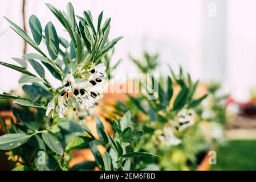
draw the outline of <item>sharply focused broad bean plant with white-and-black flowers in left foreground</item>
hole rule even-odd
[[[0,150],[9,156],[14,170],[129,170],[133,158],[153,156],[136,151],[134,141],[144,132],[129,127],[130,111],[113,119],[111,134],[105,131],[99,117],[95,117],[97,137],[84,122],[103,97],[103,84],[109,75],[111,61],[107,53],[123,38],[108,41],[111,19],[103,21],[101,12],[95,24],[90,11],[83,11],[82,16],[75,15],[71,3],[67,4],[66,12],[48,3],[46,6],[62,24],[70,40],[58,36],[52,22],[43,29],[35,15],[29,18],[32,38],[5,18],[11,29],[37,52],[27,53],[22,59],[14,58],[19,66],[0,62],[22,73],[19,84],[23,84],[25,93],[23,96],[0,94],[0,98],[14,100],[15,104],[11,127],[1,118],[6,134],[0,137]],[[44,45],[48,52],[42,51]],[[46,70],[51,73],[51,79],[59,80],[59,87],[52,85],[52,80],[48,81]],[[98,150],[99,145],[104,146],[103,153]],[[82,148],[90,148],[95,161],[70,168],[71,151]]]

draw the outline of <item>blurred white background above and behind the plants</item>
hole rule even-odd
[[[42,27],[52,21],[60,36],[67,37],[61,24],[44,3],[66,10],[66,0],[26,0],[27,27],[35,14]],[[137,72],[128,53],[140,58],[143,50],[160,54],[159,72],[166,64],[181,64],[194,79],[220,81],[226,92],[246,101],[256,86],[256,1],[255,0],[70,0],[76,14],[91,10],[94,19],[104,10],[111,17],[109,38],[124,36],[116,45],[113,62],[123,59],[118,71]],[[0,61],[14,63],[22,57],[23,40],[2,16],[22,27],[22,0],[0,0]],[[28,28],[29,29],[29,28]],[[28,31],[31,35],[31,32]],[[28,52],[35,52],[29,47]],[[0,92],[18,87],[20,73],[0,67]]]

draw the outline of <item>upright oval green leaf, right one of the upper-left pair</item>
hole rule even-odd
[[[46,37],[46,46],[52,60],[58,57],[59,53],[59,38],[52,22],[46,24],[44,28]]]

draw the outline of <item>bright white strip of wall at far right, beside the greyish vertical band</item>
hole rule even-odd
[[[227,82],[231,94],[246,100],[256,86],[256,1],[230,0],[227,6]]]

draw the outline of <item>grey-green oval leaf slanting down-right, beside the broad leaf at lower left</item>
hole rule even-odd
[[[51,133],[42,133],[42,137],[44,142],[47,144],[52,151],[56,152],[59,155],[63,155],[62,144],[58,140],[58,138],[54,137]]]

